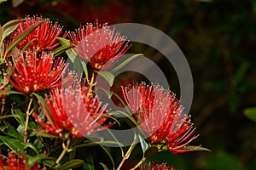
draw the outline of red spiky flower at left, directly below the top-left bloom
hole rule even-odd
[[[13,64],[8,62],[9,82],[24,94],[60,86],[61,75],[67,67],[63,59],[54,59],[54,54],[35,51],[12,56]]]

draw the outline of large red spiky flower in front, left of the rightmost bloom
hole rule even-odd
[[[73,138],[84,138],[113,125],[103,125],[108,119],[107,105],[98,102],[91,86],[80,86],[76,77],[67,80],[66,88],[55,88],[45,100],[49,112],[43,105],[41,108],[48,122],[43,122],[36,113],[33,116],[50,134],[62,138],[68,133]]]

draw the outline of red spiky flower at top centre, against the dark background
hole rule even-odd
[[[107,24],[87,24],[76,32],[69,34],[71,41],[77,45],[76,52],[80,59],[90,62],[96,70],[106,70],[130,48],[126,37],[111,31]]]

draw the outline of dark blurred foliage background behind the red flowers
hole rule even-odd
[[[19,4],[20,2],[20,4]],[[96,18],[109,24],[136,22],[166,32],[188,59],[195,86],[190,114],[201,136],[193,144],[212,150],[151,157],[180,169],[255,169],[256,126],[243,111],[256,106],[256,1],[8,1],[0,5],[0,24],[42,14],[66,30]],[[163,67],[178,94],[177,77],[154,50],[133,45]]]

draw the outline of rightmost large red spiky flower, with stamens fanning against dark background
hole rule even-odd
[[[183,153],[184,147],[198,137],[195,127],[184,114],[175,94],[159,85],[122,88],[125,101],[151,143],[166,142],[168,150]]]

